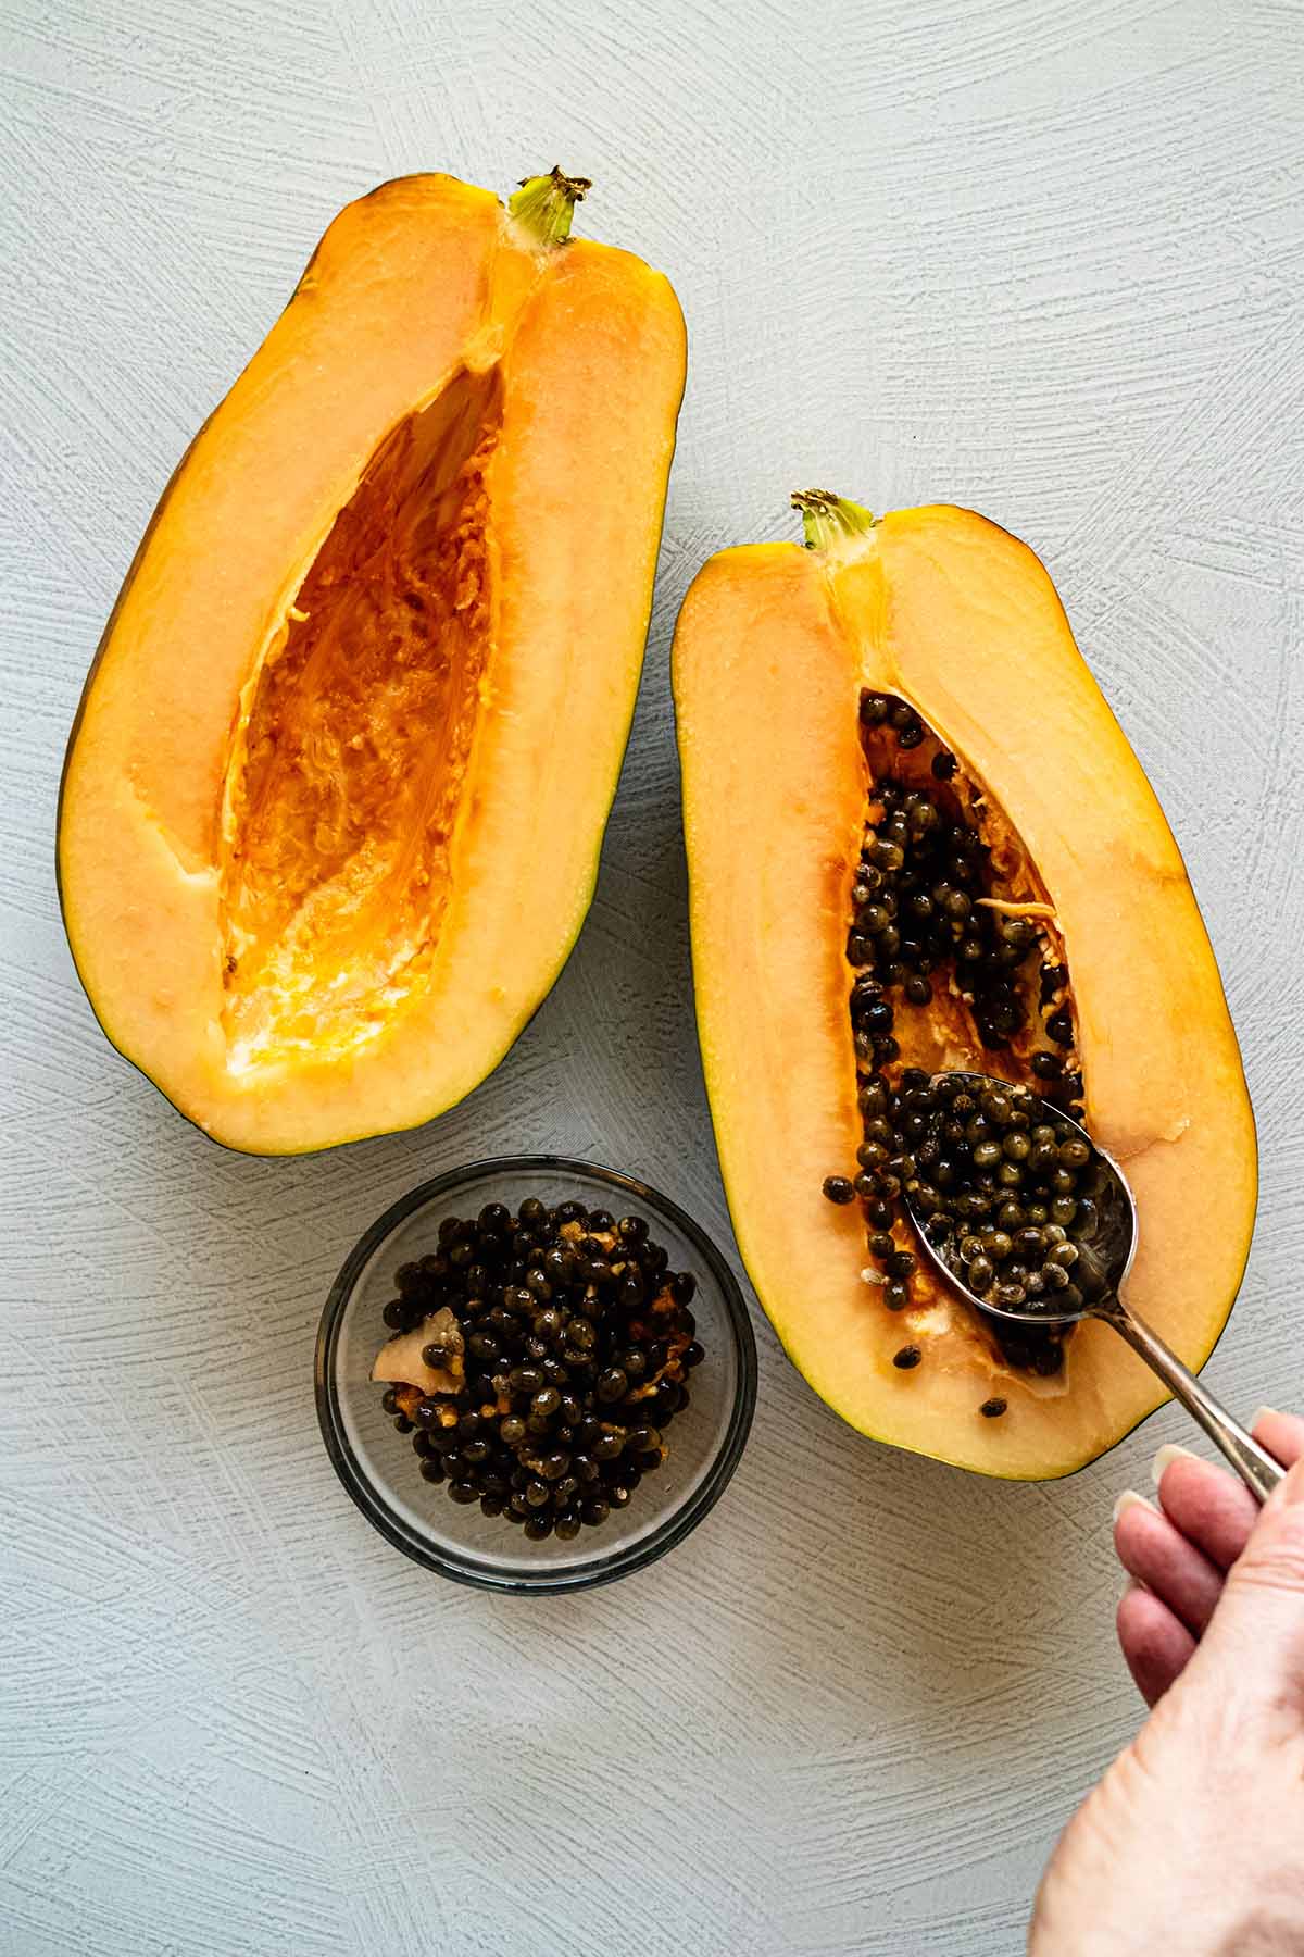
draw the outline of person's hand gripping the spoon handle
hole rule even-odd
[[[1206,1462],[1126,1503],[1144,1589],[1118,1634],[1153,1710],[1050,1859],[1030,1957],[1304,1953],[1304,1421],[1255,1436],[1294,1460],[1263,1511]]]

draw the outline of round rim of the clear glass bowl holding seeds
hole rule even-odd
[[[440,1196],[450,1196],[459,1184],[469,1182],[471,1178],[483,1178],[491,1172],[510,1176],[520,1174],[522,1170],[557,1170],[559,1174],[592,1176],[606,1188],[620,1190],[624,1196],[631,1196],[649,1204],[653,1209],[663,1211],[665,1217],[673,1221],[674,1227],[692,1243],[716,1282],[723,1313],[733,1335],[739,1374],[723,1438],[706,1476],[682,1507],[673,1509],[667,1519],[651,1530],[651,1534],[624,1550],[612,1550],[606,1556],[598,1552],[585,1564],[557,1571],[540,1570],[538,1575],[520,1575],[520,1571],[508,1573],[479,1562],[465,1562],[456,1552],[440,1548],[438,1544],[426,1540],[418,1530],[405,1525],[387,1505],[348,1440],[334,1376],[344,1313],[354,1296],[358,1278],[385,1237],[389,1237],[399,1223],[407,1221],[414,1209],[436,1202]],[[649,1182],[641,1182],[637,1176],[628,1176],[620,1168],[608,1168],[602,1162],[585,1162],[579,1157],[549,1153],[491,1155],[475,1162],[461,1162],[457,1168],[448,1168],[438,1176],[430,1176],[426,1182],[418,1182],[405,1196],[399,1196],[399,1200],[393,1202],[379,1217],[375,1217],[344,1258],[338,1276],[326,1294],[326,1305],[317,1329],[313,1372],[317,1391],[317,1425],[321,1427],[326,1456],[330,1458],[330,1466],[340,1478],[344,1491],[368,1523],[371,1523],[371,1526],[395,1550],[401,1550],[414,1564],[434,1570],[438,1575],[450,1577],[454,1583],[467,1583],[471,1589],[487,1589],[508,1595],[555,1595],[559,1591],[594,1589],[598,1583],[614,1583],[616,1577],[630,1575],[630,1571],[643,1570],[647,1564],[657,1562],[657,1558],[665,1556],[667,1550],[673,1550],[674,1544],[682,1542],[684,1536],[696,1528],[702,1517],[710,1515],[723,1495],[725,1487],[733,1479],[733,1470],[743,1456],[753,1415],[757,1411],[757,1339],[743,1301],[743,1290],[729,1270],[719,1247],[712,1243],[702,1225],[696,1223],[686,1209],[680,1209],[676,1202],[663,1196],[661,1190],[655,1190]]]

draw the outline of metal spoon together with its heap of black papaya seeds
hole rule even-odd
[[[905,1184],[905,1206],[929,1262],[978,1311],[1024,1327],[1103,1319],[1128,1341],[1175,1399],[1226,1454],[1245,1487],[1267,1501],[1281,1462],[1183,1366],[1126,1301],[1136,1256],[1136,1202],[1118,1164],[1060,1108],[989,1074],[935,1074],[931,1133],[944,1137],[946,1188]],[[1005,1231],[989,1221],[991,1192],[1036,1176],[1050,1202],[1044,1223]],[[1038,1209],[1038,1213],[1042,1213]]]

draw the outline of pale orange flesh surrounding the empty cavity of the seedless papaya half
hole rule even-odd
[[[59,798],[57,879],[78,977],[109,1041],[239,1151],[309,1153],[454,1106],[534,1016],[588,910],[651,611],[684,329],[661,274],[612,247],[565,243],[585,188],[553,172],[504,211],[489,192],[420,176],[348,205],[178,464],[92,663]],[[393,431],[444,399],[454,421],[459,401],[479,411],[485,378],[499,417],[483,425],[477,532],[489,640],[483,673],[467,671],[473,728],[436,838],[430,943],[399,947],[397,994],[389,980],[373,998],[354,982],[362,1033],[336,1016],[317,1041],[309,984],[297,1022],[283,1014],[233,1067],[231,975],[246,947],[229,939],[248,920],[229,892],[252,820],[235,744],[266,673],[293,650],[295,597],[336,548],[336,519],[368,515],[368,472]],[[594,401],[630,436],[620,454],[592,434]],[[459,450],[436,452],[432,468],[438,515],[461,479]],[[399,515],[414,526],[420,495]],[[459,534],[450,579],[465,562]],[[325,589],[346,591],[348,577],[332,573]],[[459,585],[448,595],[454,616]],[[442,658],[438,644],[426,652]],[[309,751],[321,701],[311,652],[303,663],[287,726]],[[557,751],[563,714],[569,763]],[[405,781],[428,751],[416,726],[391,777]],[[516,834],[520,806],[532,810],[528,838]],[[352,810],[368,847],[373,814]],[[391,840],[403,869],[413,851]],[[413,914],[426,869],[399,892]],[[325,967],[325,994],[348,977],[340,959]],[[285,1027],[293,1039],[280,1039]]]

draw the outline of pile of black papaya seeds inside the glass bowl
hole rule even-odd
[[[696,1278],[643,1217],[526,1198],[444,1217],[395,1272],[371,1378],[420,1474],[532,1542],[600,1526],[661,1468],[704,1360]]]

